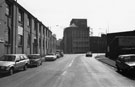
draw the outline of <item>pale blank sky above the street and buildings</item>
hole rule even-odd
[[[135,0],[17,0],[57,39],[73,18],[87,19],[93,36],[135,30]]]

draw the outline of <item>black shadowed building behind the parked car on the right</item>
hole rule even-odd
[[[107,34],[106,56],[116,59],[121,54],[135,53],[135,31],[125,31]]]

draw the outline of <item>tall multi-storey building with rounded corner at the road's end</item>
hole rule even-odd
[[[65,28],[63,37],[64,53],[85,53],[89,51],[89,27],[87,19],[72,19]]]

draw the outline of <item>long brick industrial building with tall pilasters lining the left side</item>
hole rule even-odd
[[[0,0],[0,56],[56,50],[56,36],[14,0]]]

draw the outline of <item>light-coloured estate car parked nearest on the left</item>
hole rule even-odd
[[[0,58],[0,73],[12,75],[15,70],[26,70],[29,59],[25,54],[5,54]]]

